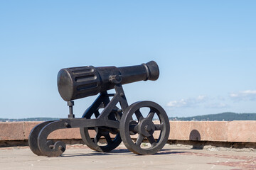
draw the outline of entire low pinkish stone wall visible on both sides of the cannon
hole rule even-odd
[[[0,142],[28,140],[38,123],[41,122],[0,123]],[[169,140],[256,143],[256,121],[170,121],[170,128]],[[81,137],[79,129],[74,128],[56,130],[48,139],[80,140]]]

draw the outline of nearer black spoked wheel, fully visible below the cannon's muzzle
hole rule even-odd
[[[147,108],[146,116],[142,110]],[[153,121],[153,118],[159,121]],[[158,122],[158,123],[157,123]],[[169,118],[164,108],[152,101],[139,101],[129,106],[120,121],[120,134],[124,145],[135,154],[155,154],[166,144],[170,132]],[[137,135],[137,140],[132,140]],[[159,135],[159,136],[158,136]],[[144,140],[150,146],[145,147]],[[157,139],[157,140],[156,140]]]

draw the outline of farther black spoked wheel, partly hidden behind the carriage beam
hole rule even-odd
[[[85,111],[86,113],[86,111]],[[100,115],[99,109],[94,113],[95,117]],[[118,111],[112,111],[110,113],[109,118],[111,120],[120,120],[122,116],[122,113],[119,113]],[[82,118],[85,118],[86,115],[82,115]],[[96,135],[93,137],[90,135],[90,132],[96,132]],[[116,147],[120,145],[122,142],[121,136],[119,134],[119,130],[115,128],[108,128],[108,127],[92,127],[92,128],[80,128],[80,134],[82,136],[82,141],[87,145],[87,147],[90,147],[90,149],[93,149],[97,152],[110,152]],[[114,139],[112,140],[112,137],[115,135]],[[106,140],[106,144],[100,144],[100,139]]]

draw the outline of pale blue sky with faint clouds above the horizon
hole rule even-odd
[[[128,103],[171,116],[256,113],[256,1],[0,1],[0,118],[66,118],[65,67],[151,60]],[[80,117],[96,96],[75,101]]]

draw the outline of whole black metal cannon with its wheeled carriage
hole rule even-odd
[[[110,152],[121,142],[135,154],[155,154],[169,137],[169,118],[164,108],[153,101],[138,101],[129,105],[123,84],[156,80],[159,67],[151,61],[129,67],[70,67],[60,69],[58,92],[68,102],[68,118],[46,121],[36,125],[28,137],[31,151],[38,156],[58,157],[65,152],[62,141],[48,140],[50,132],[58,129],[80,128],[82,141],[97,152]],[[108,91],[114,89],[114,94]],[[152,93],[150,91],[150,93]],[[92,105],[75,118],[75,99],[97,96]],[[90,136],[95,131],[95,136]],[[105,145],[100,144],[105,140]],[[144,142],[149,142],[145,147]]]

